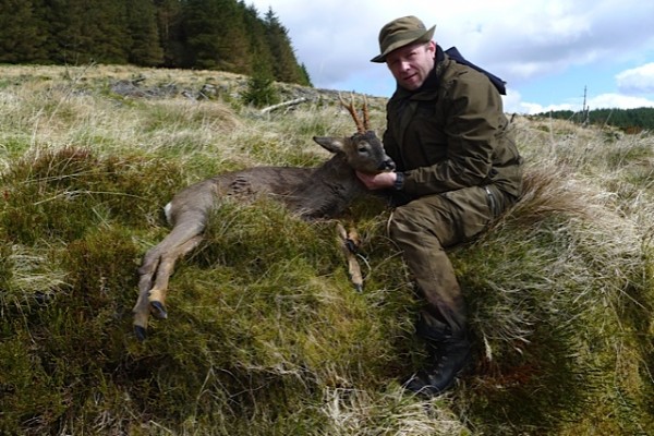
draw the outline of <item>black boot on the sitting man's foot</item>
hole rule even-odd
[[[404,388],[426,397],[436,397],[450,388],[457,375],[470,361],[470,341],[465,337],[447,336],[437,342],[431,342],[434,363],[419,371]]]

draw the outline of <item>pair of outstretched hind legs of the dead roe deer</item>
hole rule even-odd
[[[146,338],[147,322],[152,313],[157,318],[168,317],[166,291],[178,258],[183,257],[202,241],[202,222],[187,222],[175,227],[158,245],[147,252],[138,268],[138,299],[134,305],[134,332],[140,340]]]

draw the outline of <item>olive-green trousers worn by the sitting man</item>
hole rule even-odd
[[[428,195],[397,207],[390,238],[402,250],[425,306],[421,322],[431,336],[465,335],[465,302],[446,249],[482,232],[514,199],[494,186]],[[425,326],[423,326],[425,327]]]

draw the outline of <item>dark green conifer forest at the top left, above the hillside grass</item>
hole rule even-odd
[[[272,9],[238,0],[5,1],[0,63],[133,64],[253,74],[311,85]]]

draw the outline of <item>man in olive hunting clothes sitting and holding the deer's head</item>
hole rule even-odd
[[[424,299],[416,332],[431,354],[404,386],[427,396],[449,388],[471,354],[465,303],[444,249],[483,231],[522,189],[522,159],[497,88],[445,53],[432,40],[435,27],[404,16],[379,32],[372,62],[386,63],[397,81],[383,137],[397,170],[359,173],[397,201],[390,237]]]

